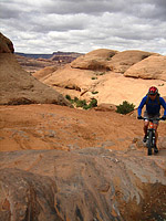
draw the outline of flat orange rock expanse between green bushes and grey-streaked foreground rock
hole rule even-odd
[[[82,110],[51,104],[0,106],[0,151],[86,147],[125,150],[134,137],[143,136],[143,122],[136,116],[120,115],[110,106],[108,112],[101,112],[100,107]],[[165,137],[165,131],[166,124],[160,123],[159,137]]]

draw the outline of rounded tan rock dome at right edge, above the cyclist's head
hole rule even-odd
[[[166,81],[166,56],[149,56],[131,66],[125,76]]]

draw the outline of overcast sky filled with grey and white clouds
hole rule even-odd
[[[17,52],[143,50],[166,55],[166,0],[0,0]]]

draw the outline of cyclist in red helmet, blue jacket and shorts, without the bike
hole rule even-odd
[[[137,118],[142,119],[142,109],[144,107],[144,105],[146,105],[146,110],[144,112],[144,118],[146,118],[144,120],[144,138],[143,141],[146,143],[146,138],[147,138],[147,128],[148,128],[148,124],[149,120],[148,118],[153,118],[154,119],[154,128],[156,130],[155,133],[155,137],[156,137],[156,144],[157,144],[157,138],[158,138],[158,133],[157,133],[157,127],[158,127],[158,119],[160,116],[160,105],[164,107],[164,115],[162,117],[163,120],[166,120],[166,103],[164,101],[163,97],[159,96],[158,94],[158,90],[155,86],[149,87],[148,93],[146,96],[143,97],[138,109],[137,109]],[[155,148],[154,151],[158,152],[158,148],[155,144]]]

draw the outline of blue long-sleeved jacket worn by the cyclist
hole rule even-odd
[[[143,109],[144,105],[146,104],[146,99],[147,99],[147,95],[145,97],[143,97],[143,99],[138,106],[138,109],[137,109],[138,116],[142,115],[142,109]],[[149,97],[148,103],[146,104],[146,112],[152,115],[159,114],[160,105],[164,107],[164,109],[165,109],[164,116],[166,116],[166,103],[163,97],[159,97],[159,104],[158,104],[157,98],[155,98],[155,101],[152,101]]]

